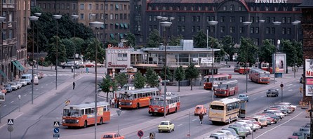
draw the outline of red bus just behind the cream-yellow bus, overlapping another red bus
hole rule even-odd
[[[215,88],[214,95],[216,97],[228,97],[236,93],[238,93],[238,81],[237,79],[229,79],[218,82],[218,87]]]

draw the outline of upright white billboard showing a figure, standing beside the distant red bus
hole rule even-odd
[[[275,73],[286,73],[286,53],[274,53],[273,63]]]

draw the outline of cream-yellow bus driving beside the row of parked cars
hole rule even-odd
[[[210,102],[208,120],[213,124],[230,123],[239,117],[240,100],[238,98],[223,98]]]

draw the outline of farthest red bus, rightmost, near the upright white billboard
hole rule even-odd
[[[254,81],[256,83],[260,84],[269,84],[270,77],[269,77],[269,72],[263,70],[263,69],[258,69],[258,68],[251,68],[249,72],[249,79],[251,81]]]

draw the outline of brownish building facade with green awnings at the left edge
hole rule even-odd
[[[0,85],[3,85],[26,71],[30,1],[3,1],[0,13],[5,18],[0,22]]]

